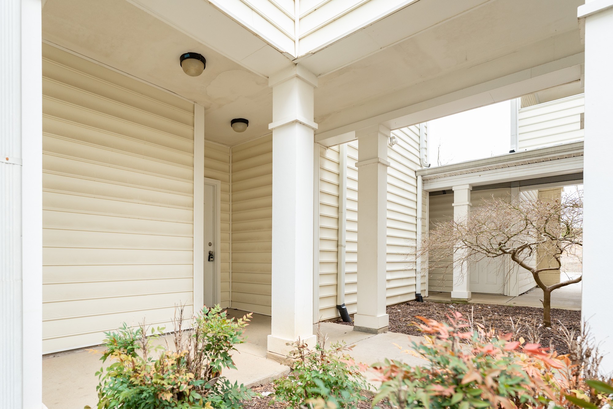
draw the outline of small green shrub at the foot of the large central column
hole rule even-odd
[[[291,408],[316,402],[327,402],[326,407],[354,408],[357,402],[366,400],[360,392],[369,386],[358,365],[346,354],[351,347],[337,343],[326,348],[325,340],[314,350],[300,340],[287,345],[294,348],[291,357],[295,363],[287,378],[275,381],[274,401]]]

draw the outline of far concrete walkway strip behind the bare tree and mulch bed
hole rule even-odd
[[[570,278],[574,278],[570,276]],[[563,278],[567,279],[567,278]],[[451,302],[450,292],[430,292],[425,301]],[[535,287],[517,297],[510,295],[479,294],[473,292],[471,304],[517,305],[543,308],[543,290]],[[558,288],[551,293],[551,308],[581,311],[581,282]]]

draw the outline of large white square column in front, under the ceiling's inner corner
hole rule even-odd
[[[313,335],[313,89],[317,77],[300,66],[268,79],[273,90],[272,317],[268,351]]]

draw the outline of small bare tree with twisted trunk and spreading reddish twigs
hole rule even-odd
[[[436,223],[417,257],[429,257],[431,268],[449,269],[454,263],[509,257],[530,271],[543,290],[543,324],[549,327],[551,292],[581,281],[581,276],[548,286],[541,274],[559,270],[562,255],[581,254],[577,249],[582,245],[583,192],[577,191],[558,199],[485,200],[463,219]],[[543,248],[547,251],[538,251]]]

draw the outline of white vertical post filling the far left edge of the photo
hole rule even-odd
[[[40,11],[0,1],[0,408],[42,402]]]

